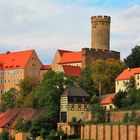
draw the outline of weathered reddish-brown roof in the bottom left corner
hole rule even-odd
[[[14,128],[19,118],[23,118],[24,121],[28,122],[39,113],[39,110],[32,108],[7,109],[7,111],[4,112],[3,116],[0,118],[0,128]]]

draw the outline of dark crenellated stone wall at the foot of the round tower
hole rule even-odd
[[[120,52],[93,49],[93,48],[82,48],[82,67],[91,65],[95,60],[102,59],[106,60],[108,58],[120,59]]]

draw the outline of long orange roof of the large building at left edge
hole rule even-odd
[[[0,69],[10,70],[24,68],[33,51],[34,50],[27,50],[0,54]]]

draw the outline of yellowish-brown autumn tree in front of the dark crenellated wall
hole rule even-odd
[[[120,60],[97,60],[92,65],[92,79],[101,94],[114,92],[115,78],[126,68]]]

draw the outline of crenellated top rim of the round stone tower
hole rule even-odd
[[[110,16],[92,16],[91,22],[111,22]]]

